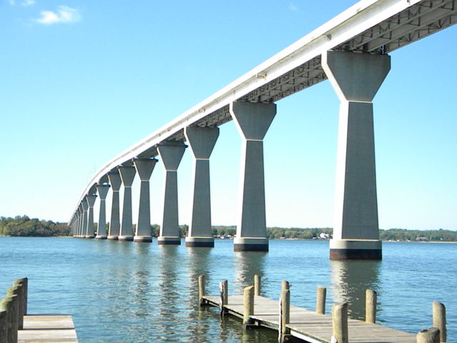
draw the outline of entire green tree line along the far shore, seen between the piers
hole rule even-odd
[[[97,225],[94,224],[96,231]],[[213,226],[212,234],[218,238],[231,238],[236,234],[235,226]],[[134,232],[135,225],[132,227]],[[180,237],[186,237],[189,232],[188,225],[180,225]],[[319,239],[321,234],[331,237],[333,229],[326,228],[282,228],[268,227],[266,234],[269,239]],[[160,226],[151,225],[151,236],[159,237]],[[55,237],[71,236],[71,228],[66,223],[52,222],[50,220],[39,220],[27,216],[16,216],[14,218],[0,217],[0,236],[17,237]],[[383,241],[441,241],[457,242],[457,232],[451,230],[408,230],[408,229],[380,229],[379,238]]]

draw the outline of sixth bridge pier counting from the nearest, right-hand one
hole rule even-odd
[[[136,170],[134,166],[119,166],[122,183],[124,184],[124,202],[122,202],[122,221],[119,241],[133,241],[131,214],[131,184],[134,182]]]

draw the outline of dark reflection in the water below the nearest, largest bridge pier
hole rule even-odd
[[[365,319],[365,292],[381,288],[380,261],[330,261],[333,302],[348,302],[349,317]],[[379,311],[379,309],[378,309]]]

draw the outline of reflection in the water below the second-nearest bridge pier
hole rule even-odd
[[[267,252],[234,252],[235,259],[235,293],[243,292],[243,288],[254,282],[254,275],[263,279]]]

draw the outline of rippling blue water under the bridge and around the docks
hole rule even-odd
[[[197,306],[197,279],[207,293],[240,293],[262,276],[262,295],[278,298],[291,282],[291,303],[314,309],[316,287],[350,303],[363,318],[366,288],[378,292],[378,322],[416,333],[431,326],[431,303],[446,305],[448,342],[457,342],[457,244],[385,242],[381,262],[328,259],[328,242],[270,241],[270,252],[71,238],[0,237],[0,289],[29,277],[29,312],[73,314],[79,342],[277,342],[268,330],[243,333],[241,322]]]

